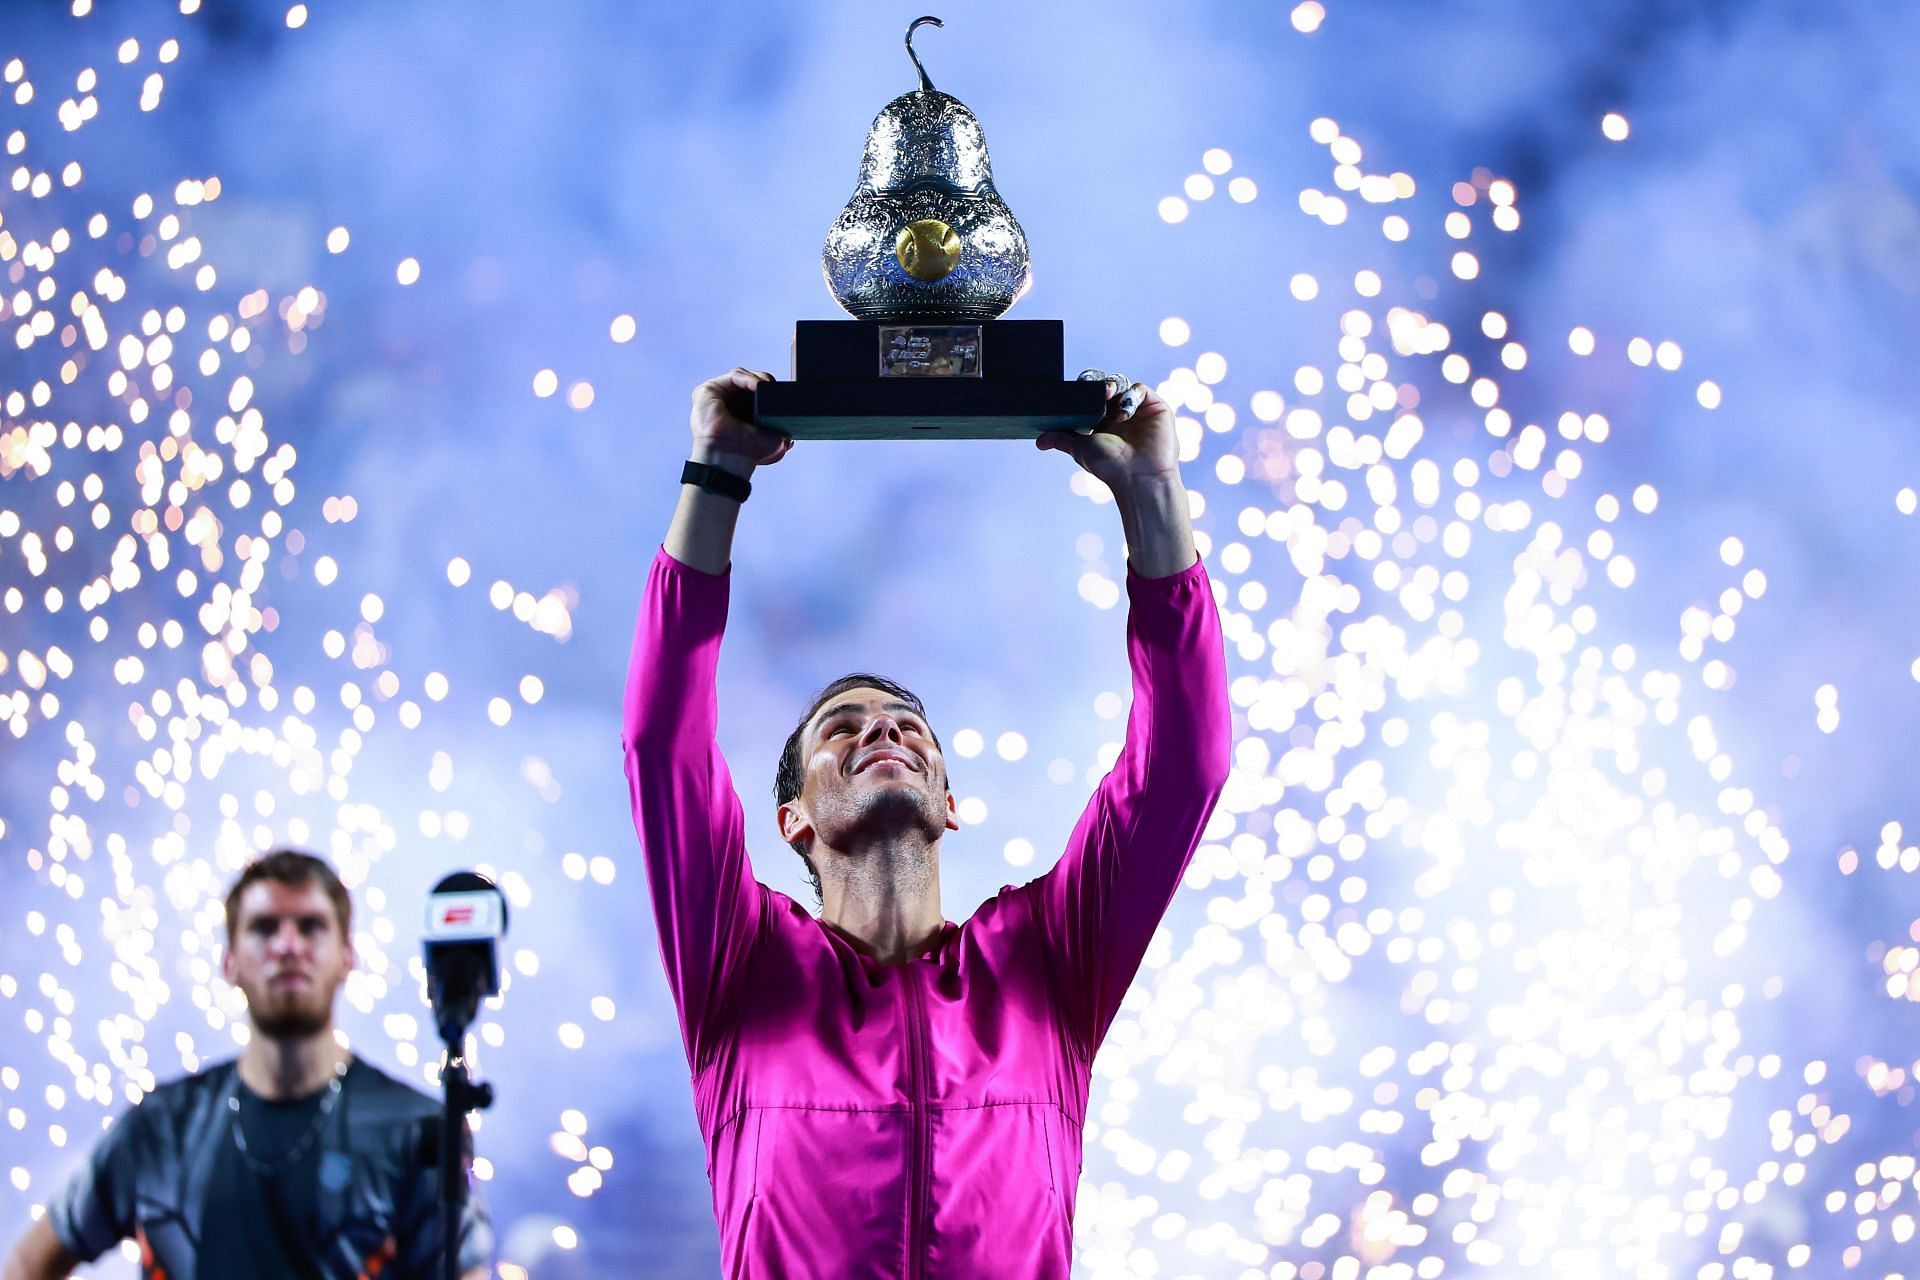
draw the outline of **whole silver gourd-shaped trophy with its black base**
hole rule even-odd
[[[822,269],[851,320],[793,326],[793,380],[762,382],[760,426],[795,439],[995,439],[1092,430],[1106,384],[1066,380],[1060,320],[1002,320],[1031,284],[1027,234],[993,186],[987,136],[933,88],[881,107]]]

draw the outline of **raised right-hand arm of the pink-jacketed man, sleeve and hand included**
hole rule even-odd
[[[1233,722],[1213,593],[1194,551],[1173,411],[1135,384],[1091,436],[1043,449],[1104,482],[1127,533],[1127,741],[1052,871],[1031,885],[1048,952],[1092,1054],[1179,889],[1227,781]]]

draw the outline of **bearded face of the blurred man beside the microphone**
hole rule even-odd
[[[349,969],[353,944],[340,931],[326,889],[269,879],[240,894],[238,927],[221,973],[246,994],[259,1034],[298,1038],[324,1031]]]

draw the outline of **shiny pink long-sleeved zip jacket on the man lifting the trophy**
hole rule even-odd
[[[626,775],[726,1276],[1068,1274],[1092,1054],[1231,741],[1206,570],[1127,593],[1127,743],[1058,865],[879,965],[753,877],[714,743],[728,578],[655,557]]]

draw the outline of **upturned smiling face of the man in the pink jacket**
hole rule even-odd
[[[828,699],[801,735],[801,794],[780,806],[787,842],[845,850],[868,839],[958,831],[947,760],[925,718],[881,689]]]

